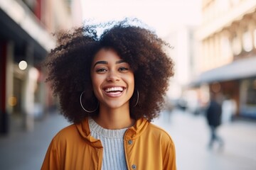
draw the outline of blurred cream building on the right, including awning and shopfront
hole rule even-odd
[[[191,85],[234,101],[235,115],[256,118],[256,1],[202,2],[198,79]]]

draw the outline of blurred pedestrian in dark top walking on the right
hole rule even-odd
[[[219,147],[223,147],[223,140],[217,134],[217,128],[221,124],[222,108],[220,103],[216,100],[216,94],[210,94],[210,102],[206,109],[206,118],[210,128],[210,142],[208,144],[209,149],[214,145],[214,142],[218,142]]]

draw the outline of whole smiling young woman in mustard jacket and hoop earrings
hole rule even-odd
[[[173,76],[166,42],[121,21],[97,36],[85,26],[58,36],[46,67],[73,125],[53,138],[42,169],[176,169],[174,142],[151,124]]]

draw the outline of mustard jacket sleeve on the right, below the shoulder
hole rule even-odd
[[[176,170],[176,151],[174,142],[172,142],[172,140],[169,140],[166,146],[163,161],[163,169]]]

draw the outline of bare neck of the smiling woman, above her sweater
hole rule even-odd
[[[129,115],[129,106],[122,108],[100,106],[99,115],[93,119],[102,128],[110,130],[129,128],[134,124],[134,120]]]

